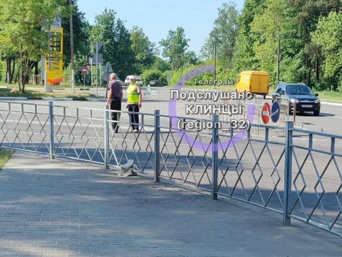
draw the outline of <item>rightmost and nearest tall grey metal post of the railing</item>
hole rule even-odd
[[[284,169],[284,219],[283,226],[290,226],[290,195],[292,185],[292,131],[293,122],[287,121],[285,126],[285,169]]]

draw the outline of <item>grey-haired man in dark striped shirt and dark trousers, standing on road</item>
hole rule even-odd
[[[116,74],[111,73],[109,76],[109,92],[106,106],[110,104],[110,110],[121,111],[121,101],[123,97],[122,86],[120,81],[116,81]],[[111,112],[111,119],[113,121],[120,120],[119,112]],[[114,133],[117,133],[119,126],[117,122],[112,123]]]

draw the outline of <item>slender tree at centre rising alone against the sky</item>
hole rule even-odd
[[[159,44],[163,47],[162,55],[173,63],[173,68],[180,68],[182,65],[182,54],[188,48],[190,39],[185,37],[185,30],[177,27],[176,30],[170,30],[168,37],[162,39]]]

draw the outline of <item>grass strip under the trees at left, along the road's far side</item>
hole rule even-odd
[[[91,98],[95,97],[93,94],[89,93],[61,93],[61,92],[52,92],[45,93],[43,91],[31,91],[25,90],[24,93],[20,91],[11,92],[11,89],[0,88],[0,97],[57,97],[57,98]]]

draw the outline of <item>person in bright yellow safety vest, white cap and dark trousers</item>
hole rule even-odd
[[[135,83],[135,77],[130,78],[130,84],[127,88],[127,106],[131,131],[139,132],[139,110],[141,108],[141,88]]]

